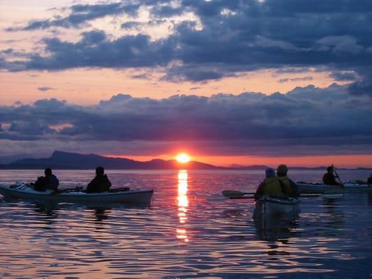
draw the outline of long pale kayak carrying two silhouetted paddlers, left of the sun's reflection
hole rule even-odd
[[[20,199],[31,199],[40,202],[68,202],[68,203],[126,203],[126,204],[150,204],[154,190],[110,190],[101,193],[85,193],[83,191],[62,190],[55,193],[53,190],[44,192],[36,191],[28,184],[8,185],[0,184],[0,194],[3,197],[15,197]]]

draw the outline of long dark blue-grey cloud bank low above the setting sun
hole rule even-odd
[[[333,84],[270,96],[221,93],[156,100],[119,94],[87,107],[38,100],[33,105],[0,107],[0,139],[69,140],[82,145],[167,142],[168,148],[188,142],[226,155],[293,156],[304,154],[301,149],[306,146],[321,154],[372,152],[372,100],[347,91],[347,86]]]

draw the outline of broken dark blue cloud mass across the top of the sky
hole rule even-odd
[[[143,34],[114,40],[105,36],[92,45],[84,41],[86,34],[77,43],[47,38],[49,56],[28,54],[27,61],[8,61],[4,54],[6,63],[0,61],[0,65],[8,70],[161,66],[163,79],[175,82],[218,80],[267,68],[312,67],[332,71],[335,77],[337,72],[354,72],[357,83],[350,90],[360,93],[369,88],[365,85],[372,73],[369,0],[315,0],[301,5],[295,0],[183,0],[178,6],[147,0],[98,3],[71,6],[67,17],[32,22],[24,29],[76,27],[107,15],[135,15],[142,7],[149,8],[153,22],[172,22],[174,15],[193,13],[200,24],[173,22],[173,33],[158,40]],[[136,23],[130,20],[121,26],[135,27]]]

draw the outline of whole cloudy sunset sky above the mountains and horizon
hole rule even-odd
[[[0,156],[372,167],[370,0],[0,0]]]

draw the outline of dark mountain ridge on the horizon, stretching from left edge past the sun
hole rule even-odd
[[[8,165],[1,165],[3,169],[95,169],[98,165],[106,169],[225,169],[214,165],[190,161],[187,164],[177,163],[176,160],[154,159],[140,162],[126,158],[112,158],[96,154],[80,154],[64,151],[54,151],[50,158],[26,158],[16,160]]]

